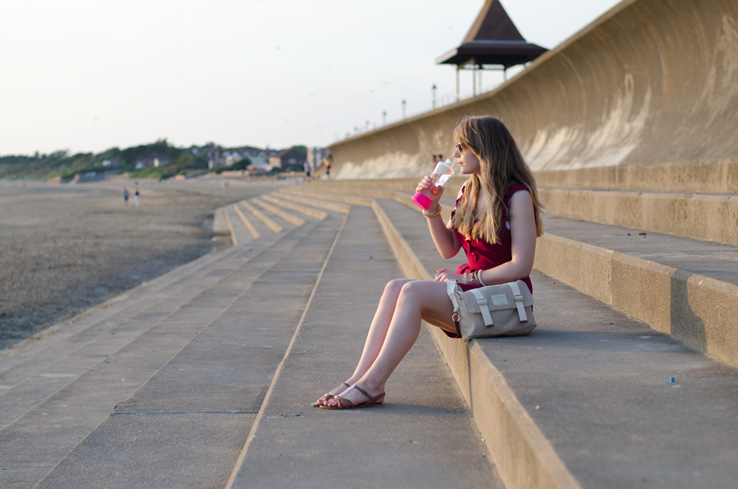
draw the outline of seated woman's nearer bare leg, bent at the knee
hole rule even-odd
[[[383,325],[386,324],[384,320],[390,310],[391,319],[387,329],[383,331]],[[370,330],[364,354],[348,383],[359,384],[371,395],[384,392],[387,379],[418,338],[421,319],[425,318],[433,324],[442,324],[452,330],[452,313],[445,282],[405,282],[395,301],[394,309],[387,308],[381,313],[379,309],[377,310],[375,319],[379,316],[381,320],[376,321],[376,327],[375,323],[372,323],[372,329],[376,328],[376,331]],[[380,348],[377,349],[377,346]],[[345,399],[359,403],[365,401],[366,396],[354,389],[347,392]],[[327,401],[327,404],[336,405],[338,402],[332,399]]]

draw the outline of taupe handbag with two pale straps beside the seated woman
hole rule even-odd
[[[487,285],[466,292],[457,290],[456,280],[446,282],[454,307],[456,333],[464,341],[487,336],[523,336],[536,327],[533,294],[525,282]]]

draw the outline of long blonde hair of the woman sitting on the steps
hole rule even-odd
[[[520,153],[510,131],[494,117],[465,117],[454,131],[456,141],[472,151],[479,160],[480,171],[467,181],[464,195],[454,214],[453,226],[470,239],[497,243],[500,226],[504,226],[505,190],[513,183],[528,188],[533,199],[536,236],[543,234],[542,204],[533,174]],[[479,216],[476,204],[480,194],[486,195]]]

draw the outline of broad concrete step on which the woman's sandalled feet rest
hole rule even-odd
[[[385,406],[309,406],[353,370],[384,285],[401,275],[372,210],[353,206],[228,487],[503,487],[427,331]]]

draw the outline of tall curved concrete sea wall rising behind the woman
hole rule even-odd
[[[536,171],[738,160],[738,2],[626,0],[492,92],[334,143],[332,176],[426,174],[486,114]]]

